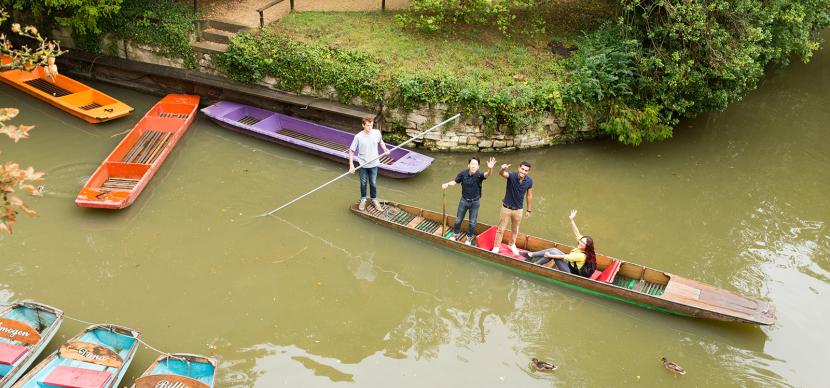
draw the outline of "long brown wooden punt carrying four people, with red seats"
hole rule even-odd
[[[524,261],[521,256],[514,256],[503,243],[499,254],[490,252],[494,246],[494,226],[478,223],[475,244],[466,245],[463,242],[466,237],[462,237],[461,241],[455,241],[441,236],[441,213],[394,202],[386,202],[384,211],[378,211],[373,206],[367,206],[365,211],[360,211],[356,204],[351,206],[351,210],[363,218],[391,229],[453,248],[474,258],[592,294],[681,316],[755,325],[775,323],[775,309],[768,302],[599,253],[597,271],[591,278],[586,278]],[[447,215],[443,221],[449,230],[455,223],[455,217]],[[468,223],[465,220],[462,229],[466,230],[467,227]],[[503,239],[509,241],[509,238],[508,230]],[[516,246],[522,251],[539,251],[551,247],[563,252],[573,249],[566,244],[521,233],[516,240]]]

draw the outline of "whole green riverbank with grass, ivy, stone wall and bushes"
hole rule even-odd
[[[591,2],[567,2],[573,3]],[[623,18],[539,35],[557,20],[550,11],[563,5],[542,9],[547,19],[519,19],[524,24],[516,32],[503,24],[488,29],[474,18],[441,21],[437,32],[400,23],[420,20],[420,11],[290,15],[263,31],[246,31],[222,21],[197,28],[196,16],[187,15],[192,11],[169,0],[157,4],[167,7],[160,14],[180,17],[153,19],[141,12],[146,3],[129,0],[125,9],[132,16],[110,23],[111,31],[58,36],[100,54],[247,83],[269,103],[282,99],[266,97],[274,93],[380,111],[392,141],[461,112],[460,122],[418,143],[430,149],[512,151],[600,136],[639,145],[671,137],[681,118],[726,109],[753,90],[766,69],[786,66],[794,55],[809,60],[820,47],[817,31],[830,22],[830,9],[821,7],[787,2],[791,9],[732,12],[726,3],[655,9],[665,17],[623,7]],[[798,17],[784,17],[785,8]],[[742,23],[755,29],[736,29]],[[684,26],[693,33],[672,32]],[[763,39],[781,29],[790,33]],[[329,114],[339,113],[320,109],[316,116]]]

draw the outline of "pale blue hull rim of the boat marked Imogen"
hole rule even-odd
[[[16,308],[26,308],[34,310],[36,314],[41,314],[43,316],[38,317],[38,321],[50,321],[46,327],[40,331],[40,340],[32,344],[29,347],[27,353],[21,357],[20,360],[14,363],[11,368],[0,377],[0,388],[8,388],[17,381],[20,376],[26,373],[26,370],[29,369],[29,366],[35,361],[37,356],[43,352],[43,349],[52,341],[52,338],[60,329],[61,323],[63,323],[63,311],[58,310],[54,307],[36,303],[36,302],[18,302],[14,303],[11,306],[3,309],[0,311],[0,317],[7,316],[7,313],[10,313],[13,309]]]

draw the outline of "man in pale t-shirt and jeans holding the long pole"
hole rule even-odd
[[[372,205],[375,209],[383,210],[383,206],[378,202],[378,146],[383,149],[383,155],[389,155],[389,149],[386,148],[386,143],[383,142],[380,131],[372,129],[375,118],[372,115],[363,117],[363,130],[358,132],[352,140],[352,145],[349,147],[349,172],[354,174],[354,155],[357,152],[358,165],[363,165],[358,171],[360,175],[360,203],[358,209],[366,209],[366,184],[369,184],[369,196],[372,198]]]

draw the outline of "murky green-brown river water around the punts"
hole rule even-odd
[[[48,179],[29,200],[40,216],[0,236],[0,303],[34,299],[135,328],[163,351],[217,357],[219,386],[826,386],[827,50],[669,141],[495,155],[533,164],[524,232],[570,241],[567,214],[579,209],[600,252],[771,301],[778,322],[762,328],[645,310],[387,230],[348,210],[353,176],[257,217],[345,166],[202,116],[132,207],[77,208],[80,187],[158,99],[94,86],[135,113],[87,125],[0,85],[0,106],[36,125],[29,140],[0,140],[0,159]],[[380,196],[440,211],[440,184],[469,155],[433,156],[415,178],[380,177]],[[495,222],[503,190],[485,182],[482,222]],[[84,326],[66,321],[49,350]],[[156,356],[142,346],[123,384]],[[673,377],[663,356],[688,373]],[[532,357],[559,370],[532,373]]]

